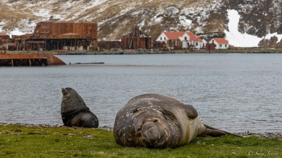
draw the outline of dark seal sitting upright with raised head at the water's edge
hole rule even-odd
[[[64,126],[97,128],[97,117],[85,105],[81,96],[72,88],[62,88],[61,115]]]

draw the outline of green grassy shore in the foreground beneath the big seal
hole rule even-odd
[[[268,155],[273,154],[273,155]],[[101,129],[0,125],[0,157],[281,157],[282,141],[197,137],[174,149],[123,147]]]

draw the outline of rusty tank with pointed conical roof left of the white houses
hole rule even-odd
[[[121,47],[123,49],[150,49],[152,44],[152,37],[148,37],[141,32],[137,26],[133,27],[133,31],[121,38]]]

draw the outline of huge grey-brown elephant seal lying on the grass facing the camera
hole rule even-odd
[[[128,101],[118,111],[113,134],[119,145],[149,148],[183,146],[196,136],[235,135],[203,124],[193,106],[161,94]]]

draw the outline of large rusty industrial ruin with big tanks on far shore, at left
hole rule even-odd
[[[16,50],[89,50],[97,46],[97,23],[70,21],[39,22],[33,34],[0,34],[2,44],[14,43]]]

